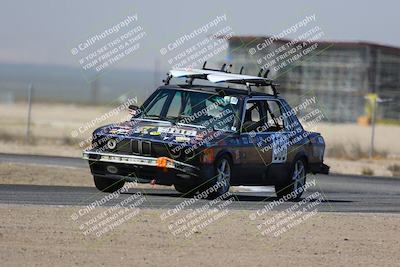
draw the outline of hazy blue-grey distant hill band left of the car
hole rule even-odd
[[[163,78],[153,71],[112,69],[93,85],[83,75],[74,67],[0,63],[0,102],[25,100],[29,83],[40,102],[110,103],[123,94],[142,101]]]

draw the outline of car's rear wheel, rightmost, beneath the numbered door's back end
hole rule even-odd
[[[297,158],[293,161],[290,175],[284,182],[275,185],[275,192],[279,198],[285,197],[291,200],[298,200],[303,194],[304,185],[307,180],[307,165],[304,158]]]

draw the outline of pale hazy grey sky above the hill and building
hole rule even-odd
[[[153,68],[166,60],[161,47],[223,14],[237,35],[278,33],[315,13],[324,39],[400,46],[399,10],[398,1],[3,0],[0,62],[79,66],[71,48],[136,13],[146,38],[118,68]]]

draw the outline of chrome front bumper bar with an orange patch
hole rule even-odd
[[[88,161],[96,161],[96,162],[113,162],[113,163],[132,164],[139,166],[158,167],[161,169],[163,168],[174,169],[186,174],[190,174],[192,176],[197,176],[196,171],[199,170],[199,168],[193,165],[186,164],[166,157],[154,158],[154,157],[144,157],[136,155],[101,153],[101,152],[86,150],[83,151],[82,158]]]

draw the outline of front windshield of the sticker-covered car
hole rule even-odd
[[[236,131],[238,112],[239,100],[233,96],[162,89],[144,107],[141,118]]]

